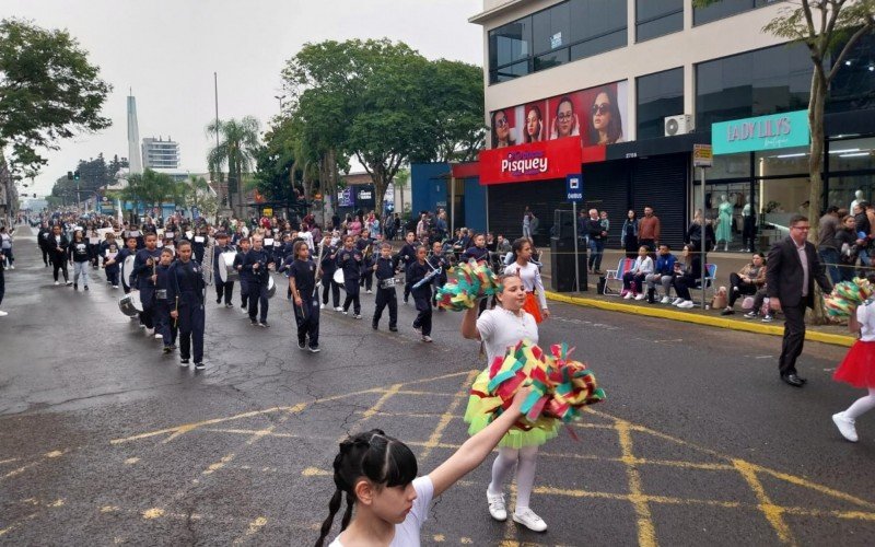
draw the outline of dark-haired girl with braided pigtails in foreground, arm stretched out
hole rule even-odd
[[[374,429],[340,443],[335,456],[337,489],[328,503],[316,547],[323,547],[346,494],[340,535],[329,547],[420,545],[420,528],[434,497],[441,496],[479,466],[522,416],[530,387],[517,392],[513,405],[429,475],[418,477],[417,458],[406,444]],[[353,508],[355,517],[352,517]]]

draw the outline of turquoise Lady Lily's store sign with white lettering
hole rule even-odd
[[[715,155],[806,147],[810,141],[807,110],[711,125],[711,143]]]

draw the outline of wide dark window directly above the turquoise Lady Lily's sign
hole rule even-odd
[[[808,107],[812,61],[804,45],[780,45],[696,66],[696,127]]]

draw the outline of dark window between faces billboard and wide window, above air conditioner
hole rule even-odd
[[[684,114],[684,69],[638,79],[638,140],[663,137],[666,116]]]

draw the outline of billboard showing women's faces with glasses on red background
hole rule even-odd
[[[584,147],[623,142],[628,90],[628,82],[614,82],[494,110],[491,148],[563,137],[580,137]]]

